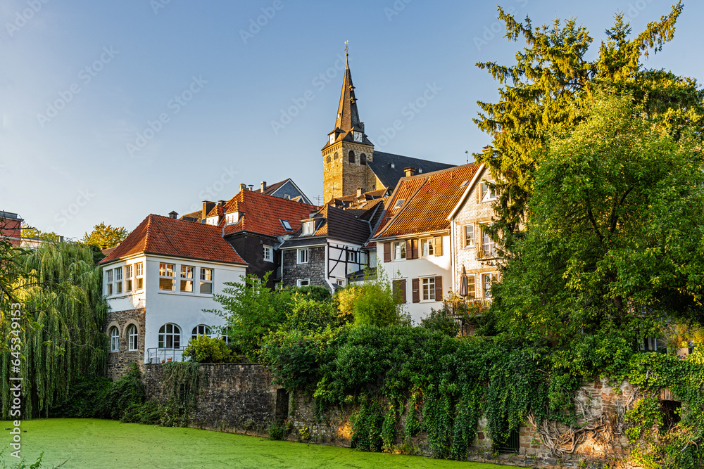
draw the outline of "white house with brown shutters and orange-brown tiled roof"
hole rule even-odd
[[[478,167],[463,165],[418,175],[407,168],[407,176],[398,181],[372,238],[377,266],[393,281],[415,323],[430,309],[440,309],[452,288],[448,215]]]

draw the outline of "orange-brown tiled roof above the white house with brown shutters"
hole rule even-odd
[[[457,205],[479,165],[463,165],[401,178],[386,206],[374,240],[431,233],[450,228],[448,214]],[[400,207],[394,209],[397,202]]]

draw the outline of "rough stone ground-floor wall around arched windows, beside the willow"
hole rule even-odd
[[[103,332],[110,337],[110,330],[115,327],[120,333],[118,352],[108,354],[108,378],[117,380],[127,371],[127,365],[136,363],[144,373],[144,308],[130,309],[127,311],[110,311],[105,321],[106,328]],[[134,324],[137,327],[137,350],[127,347],[127,328]]]

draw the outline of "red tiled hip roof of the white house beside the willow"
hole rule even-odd
[[[246,264],[232,245],[222,238],[222,229],[218,226],[153,214],[146,217],[100,264],[142,253]]]

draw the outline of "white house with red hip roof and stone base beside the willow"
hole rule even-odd
[[[180,361],[192,337],[225,321],[203,310],[226,282],[239,282],[246,262],[217,226],[149,215],[100,263],[110,311],[108,373],[130,362]]]

